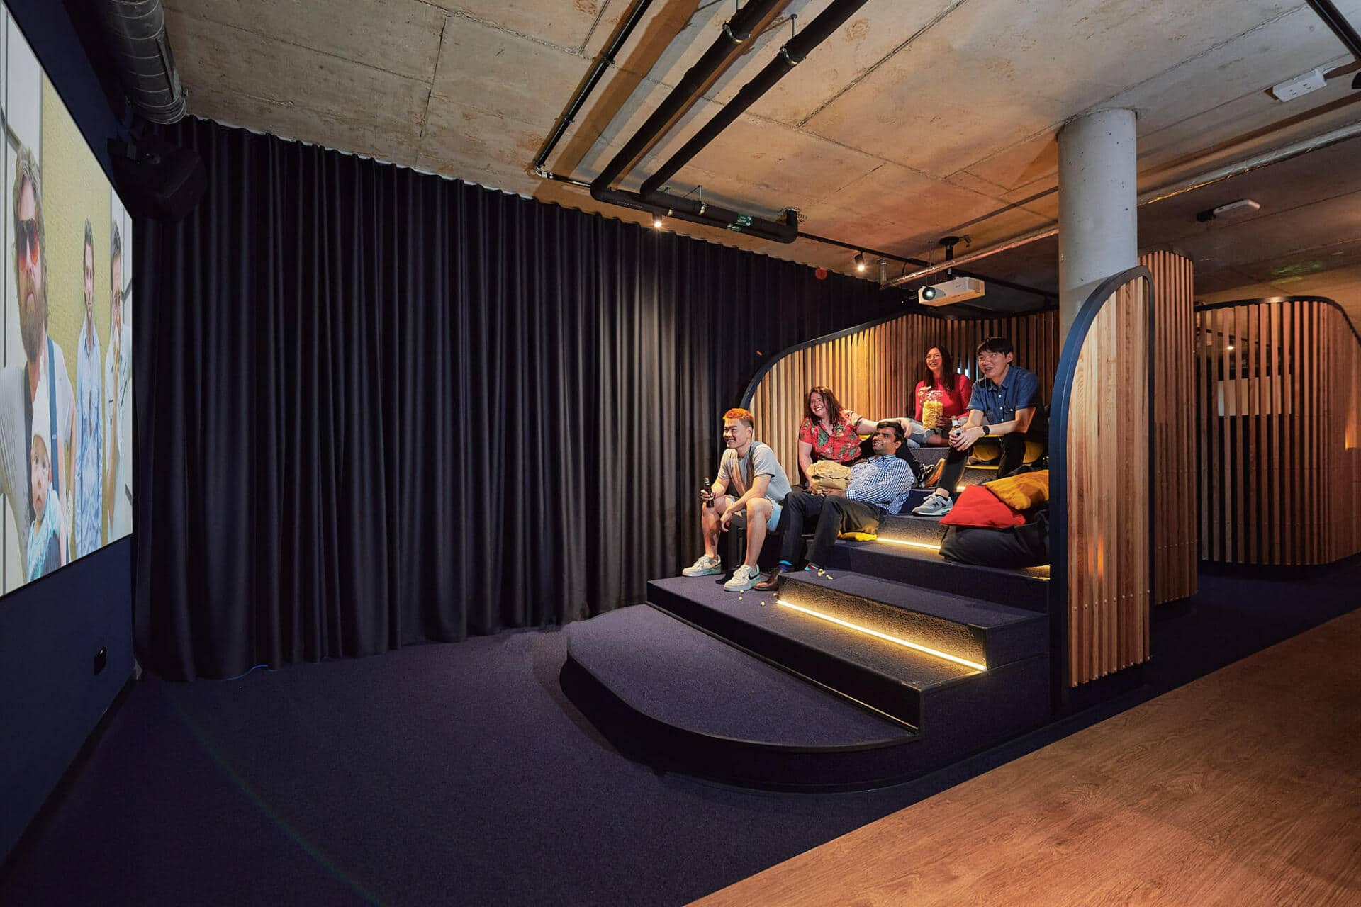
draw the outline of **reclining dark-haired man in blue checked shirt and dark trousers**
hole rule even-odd
[[[808,547],[807,570],[818,572],[826,566],[838,533],[876,532],[885,514],[898,513],[916,480],[912,466],[897,456],[905,441],[901,424],[881,422],[874,430],[874,456],[851,468],[851,483],[845,491],[808,494],[795,488],[785,495],[780,563],[755,589],[774,589],[780,574],[793,570],[803,548],[804,528],[810,522],[817,529]]]

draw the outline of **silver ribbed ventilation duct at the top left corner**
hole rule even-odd
[[[94,0],[128,99],[151,122],[177,122],[188,113],[180,72],[170,54],[161,0]]]

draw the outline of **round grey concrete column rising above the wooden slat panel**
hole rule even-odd
[[[1059,337],[1097,284],[1139,264],[1134,112],[1098,110],[1059,131]]]

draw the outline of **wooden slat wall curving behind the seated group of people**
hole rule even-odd
[[[778,359],[757,385],[750,409],[757,437],[799,481],[799,423],[808,388],[832,388],[841,405],[871,419],[912,415],[912,389],[927,349],[942,345],[976,378],[973,351],[985,337],[1010,337],[1015,362],[1036,373],[1048,403],[1059,367],[1059,313],[957,321],[909,314]]]

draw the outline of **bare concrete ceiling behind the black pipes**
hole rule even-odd
[[[1361,26],[1361,0],[1335,3]],[[165,5],[197,116],[641,219],[529,171],[626,0]],[[791,34],[791,15],[802,26],[827,5],[789,0],[622,185],[636,188],[772,58]],[[655,0],[548,169],[593,178],[734,11],[734,0]],[[942,235],[965,233],[979,247],[1056,218],[1055,136],[1077,114],[1135,109],[1141,189],[1157,188],[1356,122],[1361,91],[1350,91],[1350,76],[1289,103],[1266,92],[1315,67],[1350,63],[1297,0],[870,0],[671,186],[766,216],[796,207],[807,233],[939,260]],[[1345,192],[1337,179],[1331,189],[1317,181],[1308,200],[1297,196],[1316,152],[1302,165],[1249,174],[1241,190],[1262,203],[1260,218],[1207,230],[1194,212],[1221,201],[1204,203],[1200,190],[1142,212],[1141,245],[1196,253],[1204,292],[1258,284],[1279,292],[1286,276],[1356,272],[1361,151],[1357,143],[1337,148],[1330,167],[1334,175],[1350,170]],[[851,271],[852,252],[808,239],[781,245],[685,223],[668,228]],[[977,269],[1048,287],[1053,280],[1037,267],[1045,247]],[[988,299],[998,307],[1034,302],[991,291]],[[1357,309],[1354,318],[1361,301]]]

